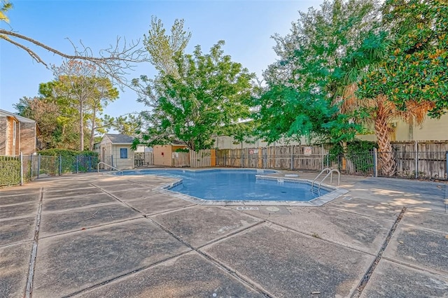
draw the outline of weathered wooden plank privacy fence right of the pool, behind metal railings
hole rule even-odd
[[[446,180],[447,141],[393,142],[395,177]],[[325,167],[351,175],[386,176],[381,171],[384,152],[360,152],[332,156],[328,146],[272,146],[266,148],[221,149],[217,166],[258,169],[321,171]]]

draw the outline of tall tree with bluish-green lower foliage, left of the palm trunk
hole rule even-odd
[[[300,13],[290,34],[274,35],[279,61],[265,71],[267,91],[254,101],[263,138],[345,142],[362,130],[358,111],[339,107],[353,76],[352,55],[377,28],[378,8],[373,0],[324,1]]]

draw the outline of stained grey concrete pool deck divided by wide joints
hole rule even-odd
[[[0,297],[448,295],[445,183],[342,176],[348,193],[303,207],[202,206],[158,191],[173,182],[1,189]]]

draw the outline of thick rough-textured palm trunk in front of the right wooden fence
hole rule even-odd
[[[375,135],[379,147],[379,167],[386,176],[393,176],[397,169],[393,148],[391,145],[391,129],[388,127],[388,118],[390,117],[388,108],[379,103],[377,118],[375,118]]]

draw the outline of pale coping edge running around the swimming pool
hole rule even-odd
[[[227,169],[227,168],[217,168],[217,169],[182,169],[182,171],[213,171],[213,170],[221,170],[221,169]],[[239,168],[235,170],[248,170],[250,168]],[[166,170],[166,169],[161,169]],[[255,169],[250,169],[255,170]],[[281,171],[271,170],[267,169],[267,171],[274,171],[274,173],[282,173]],[[260,171],[260,173],[262,173]],[[151,174],[149,174],[151,175]],[[156,175],[156,174],[153,174]],[[276,180],[279,183],[283,182],[290,182],[290,183],[299,183],[304,182],[309,185],[311,185],[312,181],[308,179],[301,179],[301,178],[290,178],[290,177],[278,177],[278,176],[265,176],[265,175],[255,175],[257,179],[263,179],[263,180]],[[172,177],[171,177],[172,178]],[[346,190],[342,187],[335,187],[328,184],[321,184],[321,188],[324,190],[329,191],[327,194],[323,194],[323,196],[316,197],[315,199],[311,199],[309,201],[245,201],[245,200],[208,200],[208,199],[200,199],[197,197],[190,196],[188,194],[182,194],[181,192],[175,192],[173,190],[169,190],[169,188],[175,187],[176,185],[181,184],[183,179],[176,180],[172,183],[167,183],[166,185],[162,185],[159,187],[155,187],[155,191],[158,191],[162,194],[168,194],[172,197],[176,197],[179,199],[183,199],[185,201],[190,201],[191,203],[197,204],[197,205],[211,205],[211,206],[308,206],[308,207],[318,207],[323,206],[324,204],[328,203],[329,201],[332,201],[333,199],[336,199],[337,197],[342,196],[343,194],[346,194],[349,192],[349,190]]]

